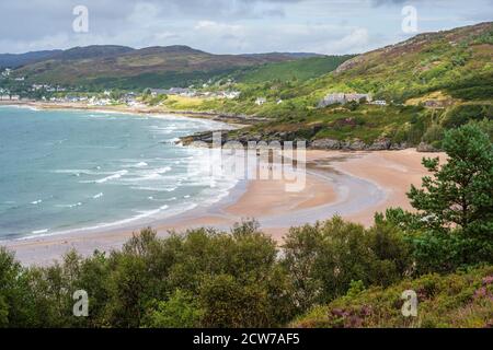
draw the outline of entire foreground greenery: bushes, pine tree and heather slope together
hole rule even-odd
[[[493,144],[477,124],[444,138],[448,162],[365,229],[332,218],[282,247],[254,221],[231,232],[151,229],[110,255],[24,268],[0,249],[3,327],[485,327],[493,301]],[[280,254],[282,253],[282,254]],[[72,316],[72,293],[89,316]],[[400,313],[416,291],[417,318]],[[323,306],[328,305],[328,306]]]

